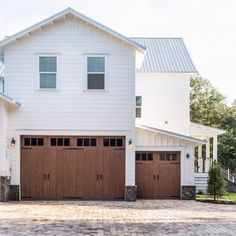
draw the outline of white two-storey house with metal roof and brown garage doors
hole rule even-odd
[[[182,39],[127,38],[67,8],[0,55],[0,199],[195,198],[207,142]]]

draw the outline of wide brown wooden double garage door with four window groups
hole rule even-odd
[[[22,199],[123,199],[124,137],[21,138]]]

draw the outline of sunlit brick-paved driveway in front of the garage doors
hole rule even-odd
[[[236,205],[195,201],[0,203],[0,235],[235,235]]]

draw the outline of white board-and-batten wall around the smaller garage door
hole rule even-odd
[[[136,150],[180,152],[181,185],[195,185],[193,143],[169,135],[136,128]],[[190,158],[186,158],[187,154]]]

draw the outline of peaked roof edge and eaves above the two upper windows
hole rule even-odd
[[[3,39],[2,41],[0,41],[0,48],[3,47],[3,46],[6,46],[8,43],[10,42],[13,42],[14,40],[17,40],[17,38],[20,38],[24,35],[27,35],[29,34],[30,32],[44,26],[44,25],[47,25],[47,24],[50,24],[50,23],[53,23],[55,20],[61,18],[61,17],[64,17],[66,16],[67,14],[72,14],[74,15],[75,17],[78,17],[79,19],[103,30],[104,32],[107,32],[113,36],[115,36],[116,38],[120,39],[122,42],[126,42],[127,44],[129,44],[130,46],[134,47],[136,50],[140,51],[140,52],[144,52],[145,51],[145,47],[143,45],[140,45],[139,43],[125,37],[124,35],[108,28],[107,26],[103,25],[103,24],[100,24],[98,23],[97,21],[77,12],[76,10],[72,9],[71,7],[68,7],[66,8],[65,10],[61,11],[61,12],[58,12],[57,14],[55,15],[52,15],[50,17],[48,17],[47,19],[43,20],[43,21],[40,21],[38,22],[37,24],[34,24],[10,37],[7,37],[5,39]]]

